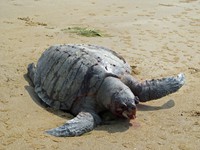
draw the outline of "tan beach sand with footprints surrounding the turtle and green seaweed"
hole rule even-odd
[[[62,29],[84,26],[109,37]],[[140,80],[184,72],[175,94],[138,106],[137,119],[89,134],[56,138],[45,130],[71,116],[46,111],[26,81],[26,67],[50,45],[91,43],[112,48]],[[0,150],[197,150],[200,147],[199,0],[1,0]]]

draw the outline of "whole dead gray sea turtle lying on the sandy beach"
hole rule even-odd
[[[99,113],[136,117],[136,104],[176,92],[185,76],[137,81],[116,52],[85,44],[55,45],[28,66],[35,93],[50,107],[76,116],[46,131],[54,136],[79,136],[101,123]]]

